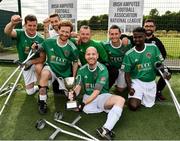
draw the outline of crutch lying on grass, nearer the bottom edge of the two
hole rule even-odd
[[[87,137],[84,137],[84,136],[63,130],[63,129],[57,127],[56,125],[50,123],[49,121],[45,120],[45,119],[38,120],[36,123],[36,128],[37,129],[43,129],[45,127],[46,123],[56,129],[55,132],[53,132],[52,135],[49,137],[50,140],[54,140],[58,133],[64,133],[64,134],[67,134],[67,135],[70,135],[73,137],[77,137],[77,138],[82,139],[82,140],[93,141],[93,139],[90,139],[90,138],[87,138]]]

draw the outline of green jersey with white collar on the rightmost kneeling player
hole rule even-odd
[[[158,47],[154,44],[145,44],[142,51],[137,51],[135,47],[127,51],[121,68],[129,72],[132,79],[150,82],[155,80],[155,63],[158,61],[163,61]]]

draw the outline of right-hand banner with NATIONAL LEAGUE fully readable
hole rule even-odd
[[[109,0],[108,28],[118,25],[121,31],[132,32],[142,26],[144,0]]]

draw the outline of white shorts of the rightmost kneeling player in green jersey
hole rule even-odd
[[[155,104],[156,98],[156,82],[143,82],[139,79],[132,80],[132,88],[134,95],[129,95],[128,98],[137,98],[141,100],[141,104],[145,107],[152,107]]]

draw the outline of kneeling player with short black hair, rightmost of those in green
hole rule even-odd
[[[137,110],[141,104],[152,107],[156,97],[156,63],[163,62],[163,57],[154,44],[145,44],[145,29],[133,30],[135,46],[126,52],[121,68],[129,89],[128,106]]]

